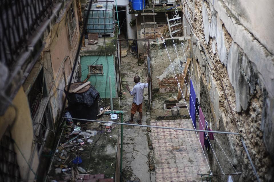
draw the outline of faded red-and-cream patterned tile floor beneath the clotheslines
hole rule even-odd
[[[191,120],[187,119],[152,120],[151,125],[193,128]],[[208,173],[209,167],[195,132],[160,128],[151,130],[157,182],[203,181],[197,174]]]

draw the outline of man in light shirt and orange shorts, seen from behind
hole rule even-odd
[[[144,89],[148,88],[148,81],[149,77],[147,79],[147,83],[141,83],[140,82],[140,77],[139,76],[134,76],[133,81],[136,83],[134,85],[133,90],[130,91],[128,84],[126,84],[126,89],[130,93],[130,95],[133,96],[132,100],[132,106],[131,106],[131,114],[130,114],[130,121],[126,123],[133,123],[133,116],[136,113],[136,111],[139,112],[140,115],[140,121],[137,122],[139,125],[142,125],[142,103],[143,103],[143,94],[144,94]]]

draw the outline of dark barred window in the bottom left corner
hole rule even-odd
[[[0,181],[21,181],[14,141],[9,128],[0,140]]]

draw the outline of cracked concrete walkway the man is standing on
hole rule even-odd
[[[135,83],[133,77],[138,75],[141,82],[146,83],[146,67],[144,64],[138,66],[137,57],[132,54],[127,54],[121,58],[121,80],[122,80],[122,98],[120,101],[121,110],[126,110],[124,121],[130,120],[130,108],[133,96],[125,88],[127,83],[132,90]],[[144,97],[147,98],[148,90],[144,90]],[[149,113],[146,113],[145,103],[142,107],[142,124],[146,125]],[[133,123],[139,119],[139,113],[136,112],[133,118]],[[151,151],[147,141],[146,127],[124,126],[123,137],[123,173],[122,181],[138,181],[138,182],[155,182],[155,171],[150,171],[149,168],[149,152]]]

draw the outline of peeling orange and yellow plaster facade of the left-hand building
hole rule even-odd
[[[68,20],[67,12],[70,12],[69,7],[71,4],[74,7],[76,28],[73,32],[70,32],[70,34],[68,30],[68,23],[70,23],[70,20]],[[44,49],[12,101],[17,108],[17,118],[11,128],[11,136],[19,146],[27,162],[31,165],[31,168],[37,174],[41,171],[43,173],[43,167],[47,166],[40,165],[40,160],[43,156],[38,156],[37,154],[37,141],[33,138],[35,132],[35,127],[33,127],[34,120],[31,118],[28,94],[39,72],[43,68],[43,73],[45,76],[44,84],[48,92],[48,97],[50,98],[49,102],[51,104],[50,109],[52,109],[53,122],[58,119],[60,116],[59,112],[64,101],[63,89],[68,83],[68,78],[72,72],[71,68],[73,60],[76,56],[75,53],[80,38],[77,10],[76,0],[70,0],[62,3],[58,17],[55,14],[56,21],[53,21],[54,23],[50,23],[49,28],[45,29],[40,37],[41,41],[43,41]],[[41,24],[41,26],[45,26],[45,24]],[[40,29],[37,29],[37,31],[39,30]],[[54,81],[55,84],[53,85]],[[74,82],[74,80],[72,80],[72,82]],[[17,82],[17,84],[20,83]],[[1,134],[3,134],[8,125],[12,123],[15,115],[14,108],[10,106],[5,114],[0,117],[0,123],[2,123]],[[2,136],[0,136],[0,138],[1,137]],[[45,148],[51,147],[47,146],[47,144],[51,145],[51,137],[54,136],[47,135],[46,144],[44,146]],[[41,180],[41,177],[43,176],[35,176],[33,172],[31,172],[28,164],[16,146],[15,152],[17,153],[16,156],[21,178],[24,181],[31,179],[36,179],[38,181]]]

